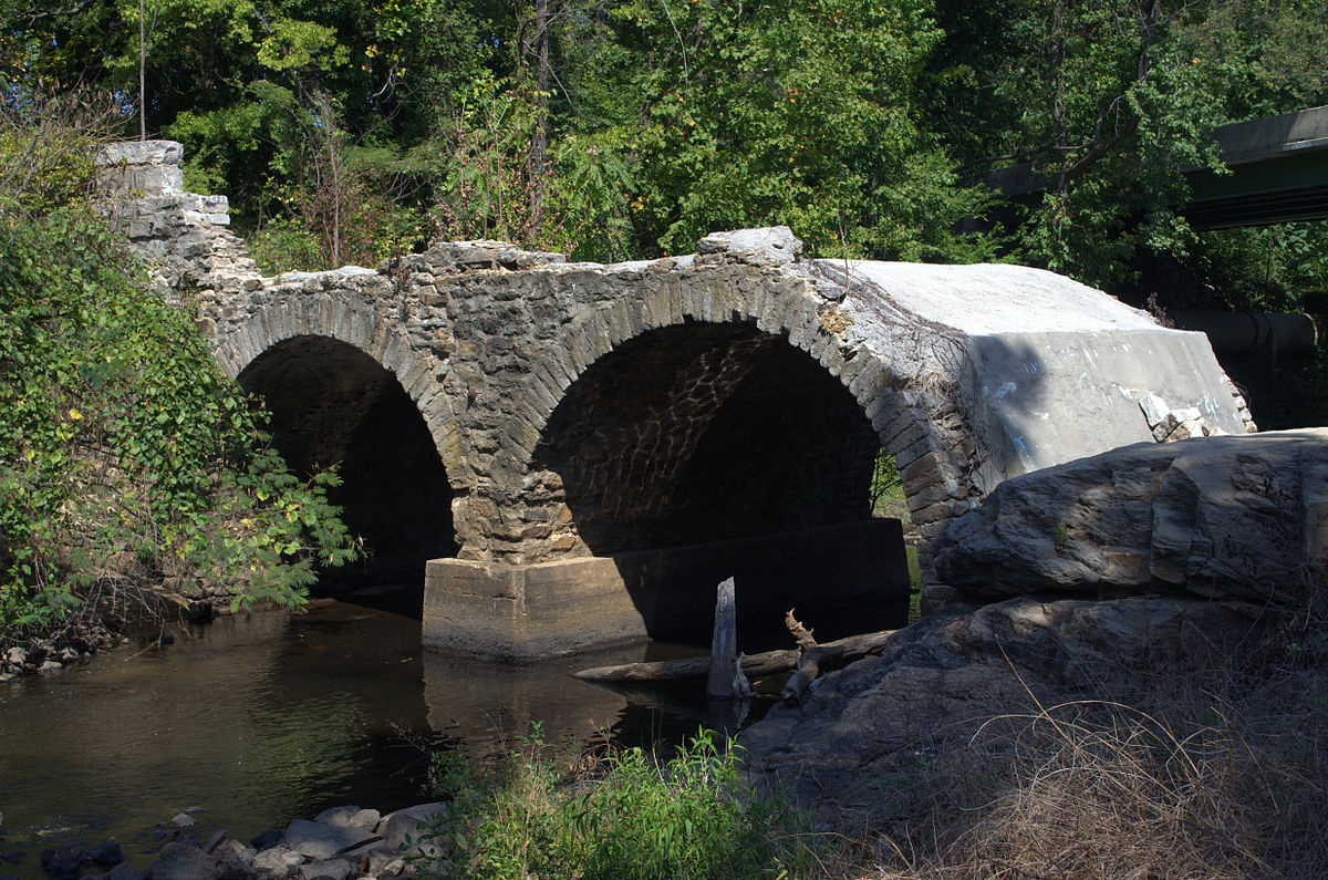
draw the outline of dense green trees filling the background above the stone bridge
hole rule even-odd
[[[3,0],[0,17],[11,100],[102,88],[126,134],[142,106],[271,269],[479,235],[620,259],[788,223],[818,254],[1004,255],[1108,288],[1163,254],[1239,286],[1247,247],[1177,214],[1182,170],[1216,162],[1216,125],[1328,102],[1315,0]],[[984,225],[985,175],[1025,161],[1041,202]]]

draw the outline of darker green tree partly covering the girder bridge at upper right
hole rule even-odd
[[[1031,162],[1040,203],[1015,257],[1122,290],[1185,259],[1183,171],[1218,125],[1328,100],[1328,11],[1301,0],[947,3],[928,102],[968,173]],[[1287,62],[1289,60],[1291,62]]]

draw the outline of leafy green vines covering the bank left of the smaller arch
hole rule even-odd
[[[0,625],[145,578],[297,605],[316,565],[356,554],[327,501],[336,475],[288,473],[189,315],[66,197],[82,190],[66,177],[93,177],[88,152],[42,134],[0,137],[4,171],[64,157],[0,219]]]

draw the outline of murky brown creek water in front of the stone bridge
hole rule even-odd
[[[511,667],[420,649],[417,615],[320,601],[175,629],[88,666],[0,686],[0,875],[44,876],[57,843],[117,840],[135,867],[158,823],[202,807],[199,833],[248,840],[339,804],[426,800],[409,740],[501,755],[547,742],[677,742],[710,723],[704,687],[619,691],[567,675],[656,659],[663,646]],[[672,651],[676,654],[676,651]]]

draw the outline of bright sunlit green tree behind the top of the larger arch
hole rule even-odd
[[[568,74],[571,128],[632,158],[639,242],[785,223],[819,254],[981,253],[955,234],[980,199],[916,122],[927,3],[629,0],[602,19],[612,40]]]

